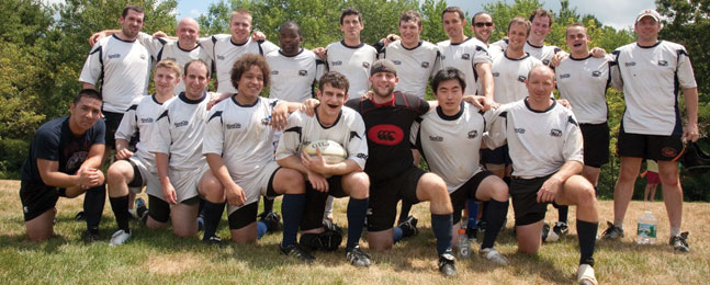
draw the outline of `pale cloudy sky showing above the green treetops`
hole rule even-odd
[[[196,18],[206,13],[211,3],[222,0],[178,0],[178,19],[184,16]],[[483,4],[498,2],[499,0],[448,0],[449,5],[461,7],[469,14],[473,15],[483,11]],[[514,0],[503,0],[506,3],[514,3]],[[552,11],[560,10],[559,0],[541,0],[544,8]],[[644,9],[655,8],[654,0],[570,0],[570,7],[577,8],[579,14],[593,14],[602,24],[613,26],[615,29],[630,29],[636,14]]]

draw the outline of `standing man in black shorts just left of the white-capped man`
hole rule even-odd
[[[570,57],[555,67],[560,98],[570,101],[582,137],[584,168],[582,175],[597,187],[601,166],[609,162],[609,125],[607,124],[607,88],[611,82],[611,57],[596,58],[589,52],[589,34],[579,23],[566,31]],[[555,225],[560,226],[560,225]]]

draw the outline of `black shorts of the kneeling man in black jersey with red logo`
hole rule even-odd
[[[397,203],[403,200],[412,205],[419,203],[417,183],[426,172],[414,166],[402,174],[377,181],[370,181],[370,205],[368,206],[368,230],[391,229],[397,216]]]

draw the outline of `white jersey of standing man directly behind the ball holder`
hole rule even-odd
[[[326,49],[328,70],[338,71],[348,78],[350,98],[367,93],[370,90],[370,66],[377,58],[377,50],[364,43],[347,46],[345,41],[329,44]]]

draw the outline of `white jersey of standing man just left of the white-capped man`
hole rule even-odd
[[[607,122],[607,88],[611,81],[611,57],[572,56],[555,67],[560,98],[572,104],[572,112],[582,124]]]

